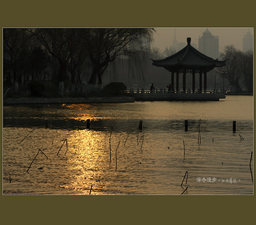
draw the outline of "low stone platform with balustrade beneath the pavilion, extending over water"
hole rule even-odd
[[[160,89],[157,91],[145,91],[144,89],[137,89],[137,91],[127,91],[134,98],[135,101],[219,101],[225,99],[224,91],[221,89],[214,89],[213,91],[166,91]]]

